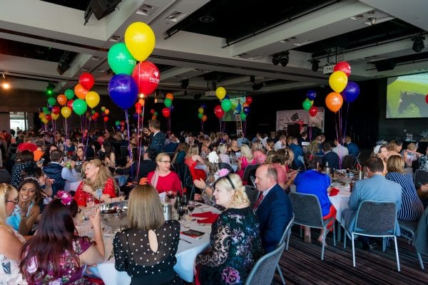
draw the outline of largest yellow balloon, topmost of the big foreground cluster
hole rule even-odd
[[[145,61],[155,48],[155,33],[148,24],[135,22],[126,28],[125,45],[137,61]]]

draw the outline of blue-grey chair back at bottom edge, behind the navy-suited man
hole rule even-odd
[[[284,248],[285,243],[282,243],[273,252],[261,257],[248,275],[245,285],[271,284]]]

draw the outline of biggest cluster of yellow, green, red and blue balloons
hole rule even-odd
[[[125,43],[115,43],[108,50],[108,64],[116,73],[108,83],[108,94],[119,108],[131,108],[136,103],[138,93],[149,95],[158,87],[159,70],[146,61],[153,52],[155,42],[151,27],[135,22],[126,28]]]

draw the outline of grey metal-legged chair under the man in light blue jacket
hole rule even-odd
[[[374,218],[375,217],[375,218]],[[363,201],[357,210],[355,227],[346,229],[347,235],[352,241],[352,264],[355,267],[355,235],[366,237],[393,237],[395,244],[395,256],[397,258],[397,270],[399,269],[399,257],[397,236],[395,235],[395,223],[397,221],[397,205],[394,202]],[[351,230],[351,231],[350,231]],[[346,240],[346,237],[345,237]],[[385,244],[383,242],[383,244]],[[384,246],[385,247],[385,246]]]

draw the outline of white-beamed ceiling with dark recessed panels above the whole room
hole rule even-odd
[[[123,0],[85,24],[89,2],[2,5],[0,73],[13,88],[44,91],[52,82],[61,93],[90,72],[94,90],[106,95],[113,76],[108,48],[136,21],[153,28],[156,47],[148,60],[161,71],[158,90],[175,97],[205,98],[218,86],[231,96],[323,86],[323,66],[343,60],[352,66],[352,81],[428,71],[428,39],[421,52],[412,50],[412,38],[428,31],[425,0]],[[287,66],[273,65],[272,55],[284,51]],[[320,61],[317,71],[312,58]],[[70,67],[60,74],[63,61]],[[382,63],[394,69],[378,71]]]

